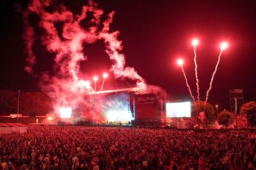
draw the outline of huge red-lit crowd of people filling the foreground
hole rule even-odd
[[[255,133],[29,127],[0,135],[0,169],[256,169]]]

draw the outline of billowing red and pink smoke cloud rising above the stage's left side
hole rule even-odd
[[[98,9],[95,2],[89,1],[87,6],[82,7],[80,14],[75,15],[67,7],[54,6],[54,11],[49,12],[48,7],[53,6],[51,1],[32,0],[27,11],[23,12],[25,33],[23,38],[26,44],[27,66],[25,70],[34,74],[36,57],[33,54],[34,28],[28,22],[30,14],[38,15],[40,21],[38,27],[43,28],[44,33],[40,40],[45,49],[56,54],[54,57],[54,75],[43,72],[39,75],[40,87],[54,98],[55,108],[71,106],[76,108],[83,103],[83,96],[91,90],[87,82],[79,77],[79,63],[87,59],[83,55],[83,44],[93,43],[102,40],[106,44],[106,53],[113,62],[111,72],[116,78],[127,77],[135,80],[138,87],[146,88],[145,81],[132,67],[125,67],[125,57],[121,54],[122,41],[117,39],[119,32],[110,32],[109,25],[113,21],[114,12],[108,14],[105,21],[101,21],[103,11]],[[89,19],[89,27],[84,28],[81,22],[92,13]],[[90,15],[91,16],[91,15]],[[55,27],[54,23],[62,23],[61,30]],[[59,33],[61,32],[61,34]],[[61,36],[60,36],[61,35]],[[85,51],[86,53],[86,51]]]

